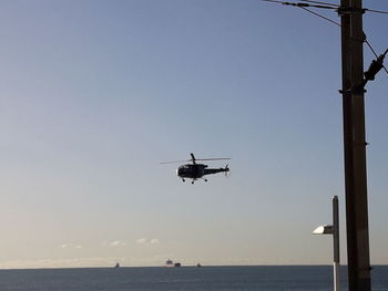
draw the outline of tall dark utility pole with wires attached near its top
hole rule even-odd
[[[363,0],[341,0],[343,111],[349,290],[371,290],[364,107]]]

